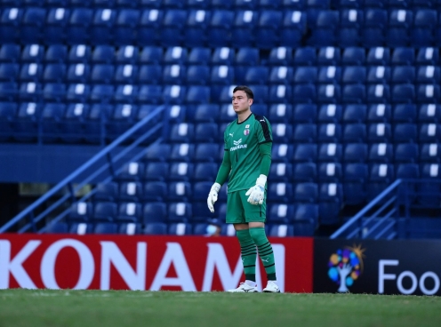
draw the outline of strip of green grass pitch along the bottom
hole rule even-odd
[[[441,298],[183,291],[0,291],[0,326],[441,326]]]

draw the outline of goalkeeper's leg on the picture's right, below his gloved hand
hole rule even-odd
[[[276,261],[274,259],[273,247],[271,243],[269,243],[265,232],[265,221],[267,219],[266,200],[267,196],[265,193],[263,203],[261,205],[253,205],[246,201],[246,196],[243,196],[243,205],[245,208],[246,221],[248,222],[250,230],[250,236],[253,238],[253,242],[257,246],[259,257],[261,258],[261,262],[267,273],[268,284],[263,291],[280,292],[277,286]]]

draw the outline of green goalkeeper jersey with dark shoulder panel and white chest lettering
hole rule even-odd
[[[223,139],[231,164],[229,193],[253,187],[260,175],[259,145],[273,140],[268,119],[255,114],[242,123],[236,119],[227,126]]]

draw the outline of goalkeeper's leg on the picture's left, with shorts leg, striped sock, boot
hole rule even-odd
[[[245,223],[244,208],[238,192],[232,192],[227,200],[227,223],[234,224],[237,240],[240,244],[240,255],[244,265],[245,283],[240,283],[233,292],[255,292],[256,285],[256,245],[251,237],[248,224]]]

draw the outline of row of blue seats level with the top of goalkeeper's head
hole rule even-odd
[[[420,103],[441,101],[438,84],[248,84],[254,103]],[[0,101],[126,104],[230,103],[235,86],[180,84],[0,83]]]

